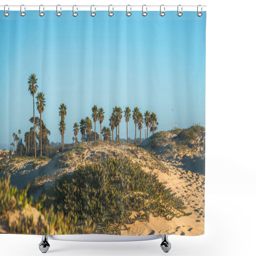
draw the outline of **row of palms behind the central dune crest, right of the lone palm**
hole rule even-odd
[[[112,131],[112,140],[114,140],[114,130],[116,128],[116,141],[120,140],[120,122],[123,118],[123,110],[120,107],[113,108],[112,114],[109,118],[109,127],[103,126],[101,129],[101,124],[104,121],[104,109],[98,108],[97,105],[94,105],[92,107],[92,119],[94,122],[94,140],[96,141],[96,122],[100,122],[100,140],[110,140],[111,131]],[[129,143],[129,137],[128,137],[128,122],[131,118],[131,109],[129,107],[126,107],[124,110],[124,117],[126,122],[126,131],[127,131],[127,142]],[[145,123],[147,127],[147,138],[148,138],[148,127],[150,128],[150,132],[154,132],[157,129],[158,122],[156,113],[152,112],[150,113],[148,110],[143,114],[140,112],[140,109],[138,107],[135,107],[132,111],[132,118],[135,124],[135,145],[137,146],[137,127],[140,130],[140,143],[141,143],[141,130],[143,128],[143,124]],[[118,128],[118,132],[117,132]],[[73,124],[73,132],[75,135],[74,140],[77,142],[77,134],[79,132],[82,134],[82,142],[84,142],[84,133],[86,132],[87,141],[89,141],[89,135],[91,135],[92,130],[92,120],[87,116],[85,119],[81,119],[80,123],[78,124],[75,122]]]

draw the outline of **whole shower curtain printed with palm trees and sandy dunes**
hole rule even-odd
[[[0,232],[204,234],[206,12],[0,13]]]

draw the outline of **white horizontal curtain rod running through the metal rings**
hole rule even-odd
[[[94,5],[94,11],[108,11],[108,5]],[[145,5],[145,11],[159,11],[160,5]],[[180,5],[180,11],[197,11],[197,5]],[[202,9],[201,9],[202,8]],[[4,5],[0,5],[4,10]],[[20,5],[6,5],[6,11],[20,11]],[[38,11],[39,5],[23,5],[22,10]],[[59,11],[72,11],[73,5],[59,5]],[[91,5],[76,5],[76,11],[91,11]],[[111,11],[126,11],[126,5],[111,5]],[[142,5],[128,5],[128,11],[141,11]],[[177,5],[162,5],[163,11],[177,11]],[[56,5],[41,5],[41,11],[56,11]],[[206,11],[206,5],[200,6],[200,11]]]

